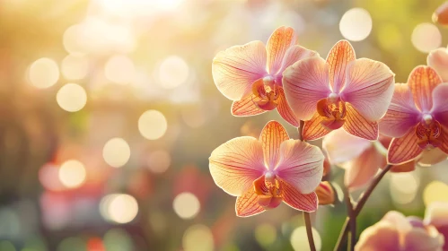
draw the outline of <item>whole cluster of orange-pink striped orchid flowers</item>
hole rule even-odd
[[[346,40],[338,41],[326,59],[296,43],[294,30],[280,27],[266,46],[252,41],[219,52],[213,60],[215,85],[233,100],[233,116],[277,109],[300,133],[300,140],[290,139],[282,125],[270,121],[259,139],[238,137],[212,152],[211,175],[217,186],[237,196],[238,216],[281,202],[303,212],[334,203],[332,187],[322,181],[329,163],[346,169],[345,186],[351,191],[371,182],[379,169],[406,172],[417,163],[446,160],[446,49],[432,52],[428,65],[417,66],[407,83],[395,83],[387,65],[356,58]],[[305,142],[321,138],[323,151]],[[400,221],[396,235],[420,228],[395,212],[383,221]]]

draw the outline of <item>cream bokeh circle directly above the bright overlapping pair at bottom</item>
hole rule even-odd
[[[129,144],[122,138],[112,138],[102,148],[102,158],[111,167],[124,166],[131,156]]]

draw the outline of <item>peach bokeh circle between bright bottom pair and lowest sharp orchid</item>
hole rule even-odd
[[[192,219],[200,210],[198,197],[191,193],[185,192],[177,195],[172,202],[174,212],[182,219]]]

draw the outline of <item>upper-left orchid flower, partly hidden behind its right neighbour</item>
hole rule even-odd
[[[218,90],[233,100],[234,116],[253,116],[277,108],[289,124],[299,125],[285,100],[283,71],[296,61],[317,53],[296,43],[293,28],[282,26],[272,33],[266,47],[261,41],[252,41],[215,56],[213,79]]]

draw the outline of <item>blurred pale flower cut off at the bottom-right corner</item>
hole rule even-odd
[[[434,226],[442,235],[444,235],[444,251],[448,250],[448,203],[435,202],[426,207],[425,219],[426,225]]]

